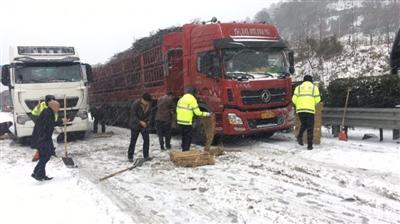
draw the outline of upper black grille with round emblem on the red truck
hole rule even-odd
[[[264,104],[285,102],[286,89],[259,89],[243,90],[241,97],[243,104]]]

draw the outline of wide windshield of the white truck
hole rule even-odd
[[[79,63],[17,65],[15,77],[16,83],[76,82],[82,80]]]

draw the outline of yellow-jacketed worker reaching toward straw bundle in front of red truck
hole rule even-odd
[[[196,88],[189,87],[176,106],[176,122],[182,134],[182,151],[189,151],[192,143],[192,122],[193,115],[199,117],[209,117],[211,113],[202,112],[196,100]]]

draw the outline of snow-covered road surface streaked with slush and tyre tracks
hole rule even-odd
[[[382,143],[324,131],[312,151],[291,134],[225,142],[216,165],[198,168],[174,167],[151,135],[152,161],[98,182],[130,166],[129,131],[109,130],[69,144],[77,169],[52,158],[45,183],[29,176],[31,149],[0,141],[0,223],[400,223],[400,144],[389,131]]]

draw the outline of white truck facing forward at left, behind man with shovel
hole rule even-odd
[[[18,138],[32,135],[32,109],[46,95],[53,95],[61,104],[60,117],[64,116],[66,97],[68,134],[84,138],[89,127],[91,73],[90,65],[80,62],[73,47],[10,47],[10,64],[2,66],[1,82],[9,87],[15,135]]]

